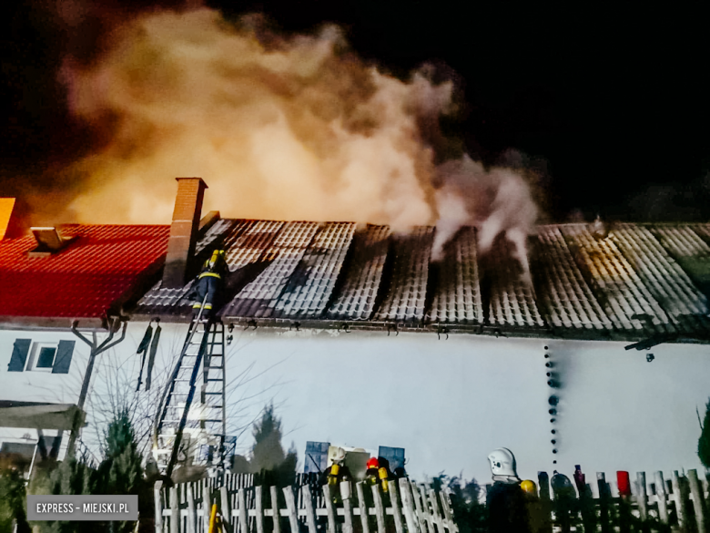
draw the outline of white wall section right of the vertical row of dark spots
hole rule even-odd
[[[607,478],[616,470],[634,477],[704,471],[695,409],[702,417],[710,396],[710,346],[662,344],[639,352],[624,350],[628,344],[550,341],[562,385],[558,464],[569,472],[577,464],[606,471]]]

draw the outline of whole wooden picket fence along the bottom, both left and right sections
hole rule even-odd
[[[675,471],[668,480],[660,471],[648,479],[639,472],[631,495],[620,495],[616,483],[607,482],[605,474],[597,472],[596,482],[587,483],[581,493],[575,491],[573,504],[564,509],[553,497],[547,474],[540,474],[535,508],[542,512],[543,524],[538,531],[626,533],[635,530],[633,519],[636,523],[654,519],[660,526],[645,530],[710,533],[708,480],[700,479],[696,470],[688,470],[685,476]],[[312,481],[299,475],[295,489],[280,491],[255,487],[253,475],[227,474],[170,488],[158,482],[156,533],[208,533],[212,504],[218,505],[225,518],[224,533],[299,533],[306,529],[308,533],[458,533],[446,489],[437,492],[404,478],[390,481],[384,496],[380,487],[343,482],[342,503],[335,506],[330,487],[322,487],[321,492]],[[274,520],[275,516],[280,519]]]

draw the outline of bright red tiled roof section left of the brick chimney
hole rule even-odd
[[[162,263],[169,226],[67,224],[76,237],[49,257],[31,258],[32,235],[0,241],[0,315],[100,318],[142,275]]]

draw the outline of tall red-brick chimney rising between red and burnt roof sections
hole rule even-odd
[[[188,261],[195,253],[198,241],[199,217],[207,184],[201,178],[176,178],[177,197],[167,241],[167,257],[162,286],[179,289],[185,286]]]

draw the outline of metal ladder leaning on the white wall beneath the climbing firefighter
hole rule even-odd
[[[189,325],[158,411],[153,455],[166,477],[178,462],[224,467],[224,324],[202,315],[201,308]]]

